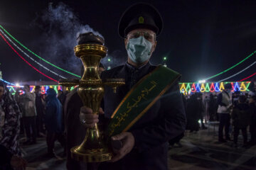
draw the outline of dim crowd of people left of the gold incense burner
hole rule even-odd
[[[65,94],[59,90],[57,96],[54,89],[41,94],[41,86],[36,86],[34,93],[30,90],[29,85],[24,85],[11,95],[0,83],[0,169],[25,169],[27,163],[21,157],[20,144],[35,145],[38,137],[46,137],[49,157],[55,156],[55,140],[63,146],[65,155]]]

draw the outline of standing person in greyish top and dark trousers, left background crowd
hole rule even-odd
[[[36,144],[36,94],[30,92],[30,86],[24,85],[25,94],[21,97],[23,124],[27,140],[25,145]]]

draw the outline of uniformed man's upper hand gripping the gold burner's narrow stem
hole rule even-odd
[[[100,108],[99,114],[104,114],[102,108]],[[99,122],[99,115],[92,114],[92,109],[87,108],[86,106],[82,106],[80,109],[80,121],[86,128],[95,127],[95,123]]]

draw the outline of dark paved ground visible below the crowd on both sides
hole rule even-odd
[[[204,170],[204,169],[255,169],[256,146],[250,148],[232,147],[232,142],[218,143],[213,130],[201,130],[198,133],[186,132],[181,140],[183,147],[174,146],[169,150],[169,169]],[[242,145],[242,137],[240,136]],[[65,169],[65,159],[61,158],[63,148],[56,142],[56,158],[46,156],[47,147],[44,138],[38,144],[22,146],[29,169]]]

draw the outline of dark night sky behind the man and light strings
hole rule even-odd
[[[0,24],[41,57],[64,69],[75,70],[69,67],[68,62],[65,63],[68,61],[65,56],[62,59],[55,57],[53,53],[43,56],[49,54],[44,47],[46,44],[44,38],[50,36],[50,32],[48,25],[40,18],[50,2],[53,2],[53,6],[58,5],[58,1],[46,0],[16,1],[16,3],[1,1]],[[126,57],[124,41],[117,34],[117,25],[123,11],[137,1],[62,2],[72,8],[82,24],[90,25],[104,36],[110,55],[122,59]],[[159,64],[163,57],[168,57],[168,67],[183,74],[182,81],[198,81],[218,74],[256,50],[256,1],[151,0],[146,2],[156,6],[164,19],[164,30],[158,38],[158,45],[151,57],[151,62]],[[29,52],[28,54],[31,55]],[[36,58],[33,55],[31,57]],[[58,79],[27,57],[24,56],[24,58],[41,72]],[[252,56],[235,69],[211,81],[229,77],[255,62],[255,59],[256,57]],[[0,40],[0,62],[4,79],[7,81],[48,80],[23,62],[2,39]],[[59,74],[72,77],[46,65]],[[229,81],[238,81],[254,73],[255,70],[256,66],[253,66]]]

